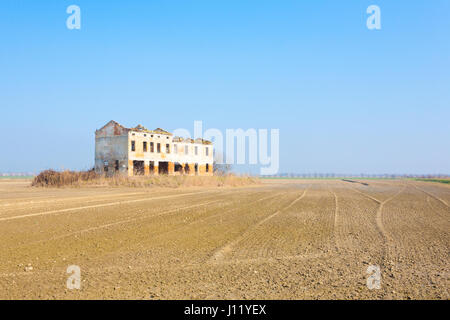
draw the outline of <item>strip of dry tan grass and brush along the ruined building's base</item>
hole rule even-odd
[[[215,176],[141,176],[127,177],[115,175],[107,177],[99,175],[94,170],[89,171],[54,171],[46,170],[36,176],[32,182],[34,187],[81,187],[81,186],[112,186],[112,187],[238,187],[258,184],[259,179],[234,174]]]

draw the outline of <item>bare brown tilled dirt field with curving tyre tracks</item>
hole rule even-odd
[[[0,180],[1,299],[449,299],[450,186]],[[69,265],[81,289],[66,288]],[[381,288],[366,286],[381,268]]]

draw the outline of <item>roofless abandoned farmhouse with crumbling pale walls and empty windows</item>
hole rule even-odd
[[[213,145],[173,137],[161,128],[125,128],[115,121],[95,131],[95,171],[113,175],[212,175]]]

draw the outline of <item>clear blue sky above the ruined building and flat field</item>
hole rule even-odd
[[[2,0],[0,108],[0,172],[88,168],[114,119],[279,128],[281,172],[449,174],[450,1]]]

